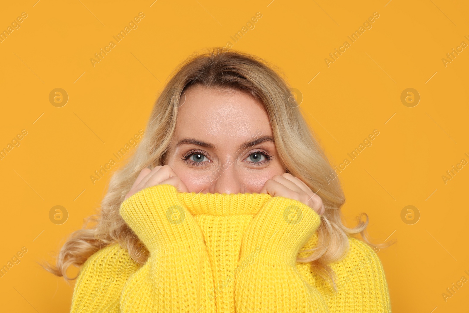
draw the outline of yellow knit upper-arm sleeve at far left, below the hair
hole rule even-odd
[[[80,269],[70,313],[119,313],[121,290],[139,267],[118,243],[95,252]]]

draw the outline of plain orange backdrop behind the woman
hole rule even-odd
[[[4,2],[0,10],[0,31],[27,14],[0,43],[0,148],[27,131],[0,160],[0,266],[27,249],[0,278],[3,312],[68,312],[73,286],[36,261],[53,261],[99,207],[112,173],[94,184],[90,176],[145,129],[174,67],[228,41],[280,67],[333,164],[350,161],[339,176],[348,226],[366,212],[375,242],[397,240],[378,252],[393,312],[467,310],[469,282],[446,301],[442,296],[462,276],[469,279],[469,166],[446,183],[442,177],[469,161],[469,48],[446,66],[442,61],[462,41],[469,44],[467,2],[66,2]],[[139,12],[137,28],[116,43],[113,36]],[[230,36],[257,12],[254,28],[234,42]],[[347,36],[374,12],[371,29],[351,42]],[[110,41],[116,46],[93,67],[90,59]],[[350,46],[327,66],[344,41]],[[49,101],[55,88],[68,94],[65,106]],[[401,101],[407,88],[420,95],[417,105]],[[379,135],[352,160],[348,153],[373,130]],[[59,225],[49,218],[57,205],[68,212]],[[401,218],[409,205],[417,222]]]

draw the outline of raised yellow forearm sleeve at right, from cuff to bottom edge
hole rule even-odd
[[[235,272],[236,312],[325,313],[325,299],[295,266],[321,218],[300,201],[272,197],[242,238]]]

